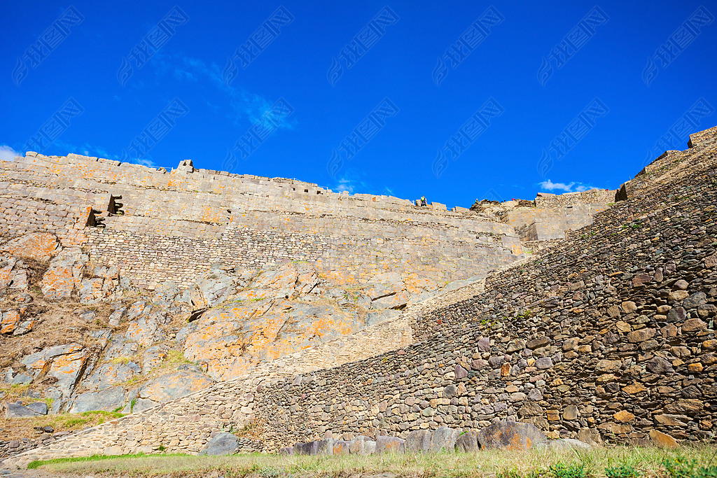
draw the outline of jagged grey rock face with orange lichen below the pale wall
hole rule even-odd
[[[60,345],[22,350],[24,356],[1,376],[9,384],[33,383],[54,399],[54,412],[138,413],[214,380],[246,376],[262,363],[396,320],[413,297],[438,290],[430,279],[398,273],[333,287],[313,265],[288,262],[264,271],[214,264],[186,289],[167,282],[139,292],[120,283],[117,267],[92,264],[82,248],[63,248],[52,234],[5,244],[8,251],[22,247],[31,247],[34,259],[27,260],[37,262],[0,259],[0,298],[12,306],[0,309],[0,333],[26,335],[34,344],[33,333],[65,326],[63,314],[75,317],[70,329],[82,333]],[[187,317],[196,320],[186,323]],[[186,361],[199,368],[178,372]]]

